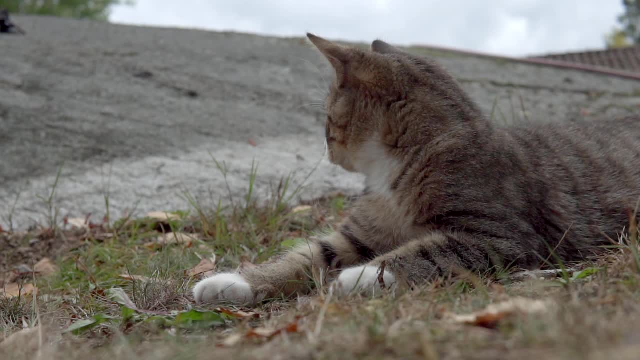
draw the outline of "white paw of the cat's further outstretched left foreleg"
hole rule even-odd
[[[193,288],[193,298],[196,304],[220,301],[234,305],[253,305],[253,291],[251,285],[238,274],[216,274],[204,279]]]

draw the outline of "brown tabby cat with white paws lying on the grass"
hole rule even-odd
[[[411,288],[460,270],[577,261],[617,238],[640,196],[640,121],[497,127],[431,60],[307,34],[335,69],[332,163],[366,176],[338,231],[196,284],[198,303],[252,306],[332,280],[339,295]]]

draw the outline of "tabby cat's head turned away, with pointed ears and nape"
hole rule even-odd
[[[307,34],[335,70],[325,107],[329,159],[367,174],[371,155],[425,145],[478,115],[456,81],[425,58],[376,40],[371,51]]]

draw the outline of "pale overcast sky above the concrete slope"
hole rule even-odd
[[[137,0],[111,21],[525,56],[602,48],[622,11],[621,0]]]

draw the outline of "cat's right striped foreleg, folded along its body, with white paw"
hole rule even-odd
[[[537,260],[516,241],[435,231],[365,265],[342,270],[333,286],[340,296],[374,296],[383,288],[417,286],[456,270],[482,273],[514,264],[527,266]]]

